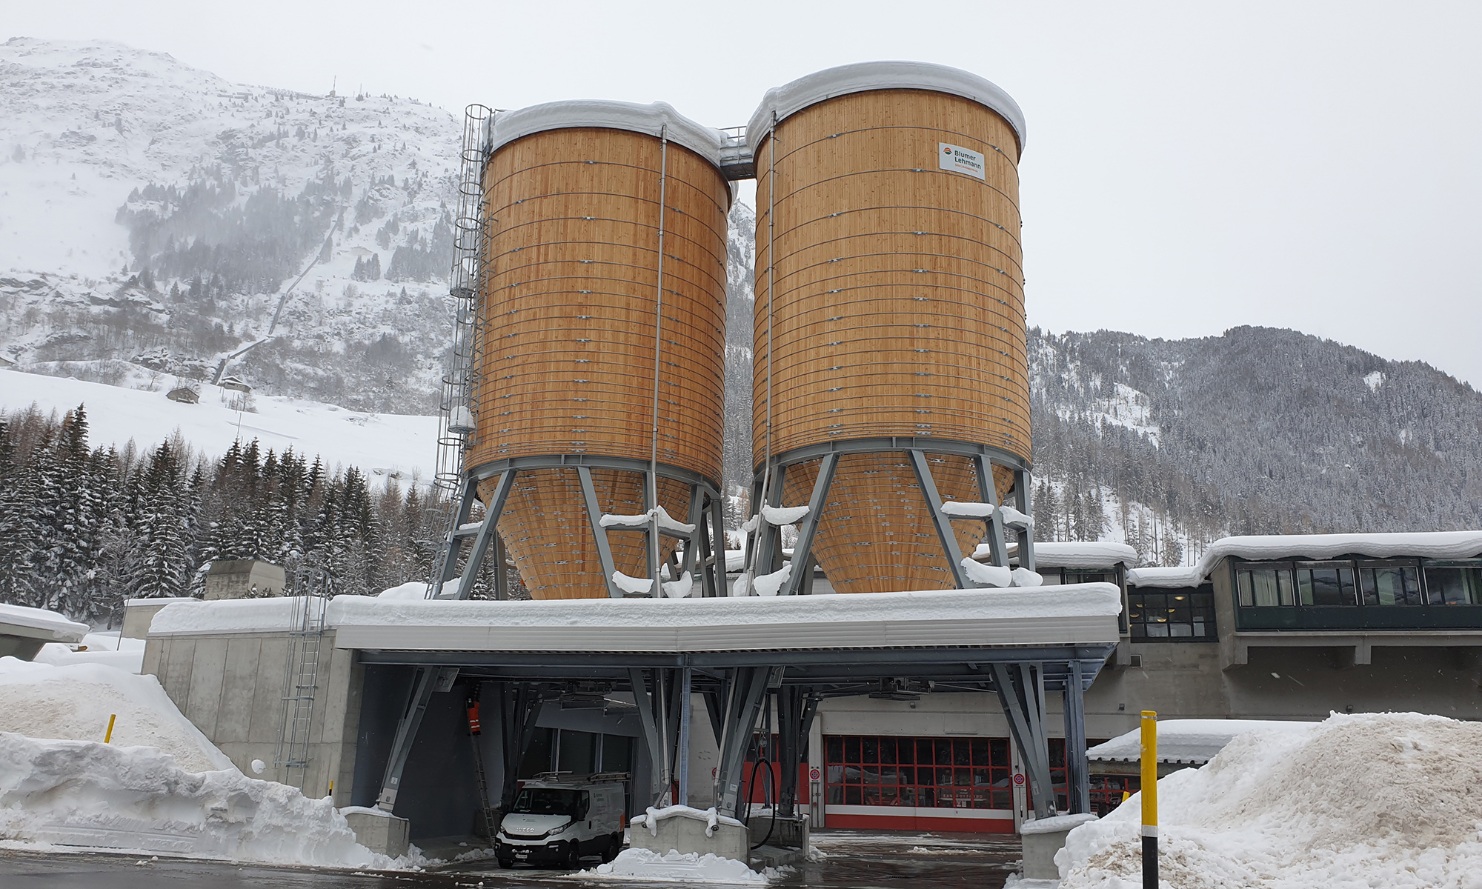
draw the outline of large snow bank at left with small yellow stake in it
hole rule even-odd
[[[153,676],[0,658],[0,845],[317,867],[418,867],[356,842],[328,799],[247,778]],[[116,716],[111,744],[104,744]]]

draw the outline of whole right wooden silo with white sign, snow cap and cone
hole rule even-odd
[[[759,495],[808,502],[831,453],[811,551],[834,588],[960,585],[943,529],[971,554],[991,526],[932,501],[1027,507],[1023,114],[977,76],[870,62],[769,92],[747,132]]]

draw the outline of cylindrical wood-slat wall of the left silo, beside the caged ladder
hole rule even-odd
[[[485,170],[488,242],[465,465],[649,459],[661,145],[553,129]],[[658,459],[720,477],[729,187],[668,144]]]

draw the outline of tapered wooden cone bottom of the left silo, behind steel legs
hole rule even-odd
[[[488,501],[496,479],[480,485]],[[643,513],[643,476],[622,470],[593,470],[597,507],[615,516]],[[689,486],[673,479],[658,480],[658,499],[670,516],[689,514]],[[581,480],[575,468],[522,470],[499,519],[499,536],[532,599],[606,599],[597,542],[587,520]],[[634,578],[648,576],[643,533],[608,533],[614,566]],[[659,538],[659,554],[668,559],[674,539]]]

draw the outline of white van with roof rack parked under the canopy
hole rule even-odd
[[[617,858],[627,827],[627,778],[622,772],[545,772],[526,781],[494,839],[499,867],[542,862],[575,868],[585,855]]]

